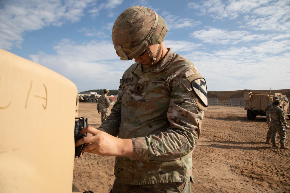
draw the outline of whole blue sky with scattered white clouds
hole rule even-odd
[[[142,5],[166,21],[166,47],[196,65],[209,91],[290,88],[289,0],[0,0],[0,47],[65,76],[79,92],[118,89],[115,19]]]

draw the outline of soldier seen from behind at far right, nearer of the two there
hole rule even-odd
[[[281,101],[279,99],[274,100],[274,107],[270,109],[270,116],[271,116],[271,143],[272,147],[278,148],[279,146],[276,144],[276,137],[277,133],[280,135],[280,149],[289,149],[285,147],[285,140],[286,140],[286,130],[289,127],[287,126],[283,109],[279,107]]]

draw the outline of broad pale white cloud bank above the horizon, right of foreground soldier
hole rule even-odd
[[[216,48],[212,52],[193,50],[183,56],[193,61],[210,91],[289,87],[289,41]],[[275,71],[275,67],[283,70]],[[279,78],[279,85],[273,82],[274,78]]]

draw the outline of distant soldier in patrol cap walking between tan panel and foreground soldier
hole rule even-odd
[[[108,89],[104,89],[104,94],[100,96],[97,104],[97,110],[100,114],[101,112],[101,121],[102,123],[108,118],[109,116],[109,105],[113,105],[113,102],[110,102],[110,99],[108,98]]]

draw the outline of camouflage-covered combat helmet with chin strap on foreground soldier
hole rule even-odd
[[[147,51],[151,65],[156,59],[149,46],[159,44],[158,54],[167,31],[165,21],[155,11],[133,6],[117,17],[112,29],[112,41],[121,60],[132,60]]]

